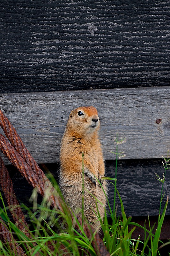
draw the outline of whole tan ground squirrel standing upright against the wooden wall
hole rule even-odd
[[[79,107],[71,111],[60,151],[59,186],[73,212],[81,214],[82,208],[82,152],[84,154],[84,215],[93,228],[97,222],[96,199],[100,216],[104,216],[106,197],[99,182],[105,175],[103,154],[98,130],[100,126],[97,109]],[[100,180],[106,191],[106,181]],[[95,198],[94,198],[95,197]]]

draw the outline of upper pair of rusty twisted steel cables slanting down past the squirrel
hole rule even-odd
[[[42,196],[47,196],[48,191],[49,197],[47,198],[51,206],[55,209],[63,211],[62,199],[56,194],[55,188],[52,186],[50,181],[47,179],[45,174],[39,168],[33,157],[30,155],[29,151],[26,149],[22,140],[20,139],[15,128],[9,122],[6,116],[0,110],[0,126],[3,128],[6,137],[10,140],[11,144],[6,140],[6,138],[0,134],[0,150],[9,159],[9,161],[18,169],[19,172],[25,177],[30,185],[37,188],[37,191]],[[69,210],[69,208],[68,208]],[[72,221],[74,217],[71,214]],[[82,225],[82,220],[78,217],[80,225]],[[79,229],[78,224],[75,224],[75,228]],[[84,224],[84,231],[86,236],[90,239],[92,234],[86,224]],[[94,230],[92,229],[94,233]],[[104,246],[98,233],[94,236],[95,239],[92,241],[92,245],[97,255],[109,256],[107,248]]]

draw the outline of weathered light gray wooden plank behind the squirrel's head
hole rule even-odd
[[[0,109],[38,163],[59,161],[70,111],[86,105],[98,109],[106,160],[115,158],[116,133],[126,138],[119,146],[126,159],[160,158],[170,149],[170,87],[0,94]]]

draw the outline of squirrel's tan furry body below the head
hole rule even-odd
[[[67,144],[65,143],[67,141]],[[63,137],[62,141],[62,154],[61,154],[61,170],[60,170],[60,188],[66,202],[70,205],[71,209],[78,214],[81,214],[82,207],[82,166],[89,168],[90,171],[99,179],[99,171],[103,168],[104,176],[104,163],[100,155],[101,147],[99,140],[85,141],[82,139]],[[82,152],[84,159],[82,158]],[[101,162],[101,163],[100,163]],[[102,165],[102,166],[100,166]],[[103,188],[106,191],[106,184],[103,183]],[[101,216],[104,216],[104,206],[106,205],[106,197],[103,189],[97,182],[96,187],[84,175],[84,213],[87,220],[93,222],[96,220],[97,212],[96,199],[101,202],[98,204],[98,210]],[[93,223],[93,227],[97,227],[99,223]]]

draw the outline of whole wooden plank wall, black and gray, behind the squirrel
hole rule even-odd
[[[170,148],[169,9],[169,0],[0,3],[0,109],[57,178],[70,110],[95,106],[107,176],[115,175],[114,138],[126,138],[117,183],[127,215],[158,215],[154,172],[162,175]],[[24,201],[32,188],[8,168]],[[109,196],[112,204],[112,187]]]

